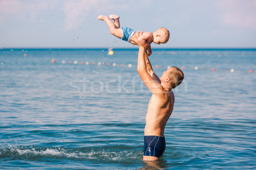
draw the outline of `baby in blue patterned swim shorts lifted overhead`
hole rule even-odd
[[[137,35],[138,40],[145,49],[148,51],[148,56],[152,54],[151,51],[151,42],[154,42],[156,44],[161,44],[161,43],[166,43],[169,40],[170,33],[166,28],[159,28],[157,31],[153,32],[143,32],[143,34],[140,36],[138,32],[135,32],[131,28],[123,27],[120,28],[120,23],[119,23],[119,16],[111,14],[109,16],[105,15],[99,15],[97,17],[98,20],[103,20],[108,24],[108,27],[110,29],[111,34],[114,36],[131,42],[131,44],[137,45],[136,41],[134,40],[134,34]],[[114,20],[112,22],[111,20]]]

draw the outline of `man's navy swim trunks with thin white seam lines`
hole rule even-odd
[[[164,137],[160,136],[144,136],[144,156],[155,156],[160,158],[166,148]]]

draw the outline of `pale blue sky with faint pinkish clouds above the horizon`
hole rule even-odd
[[[256,0],[0,0],[0,48],[136,48],[111,35],[121,27],[170,31],[151,48],[256,48]]]

